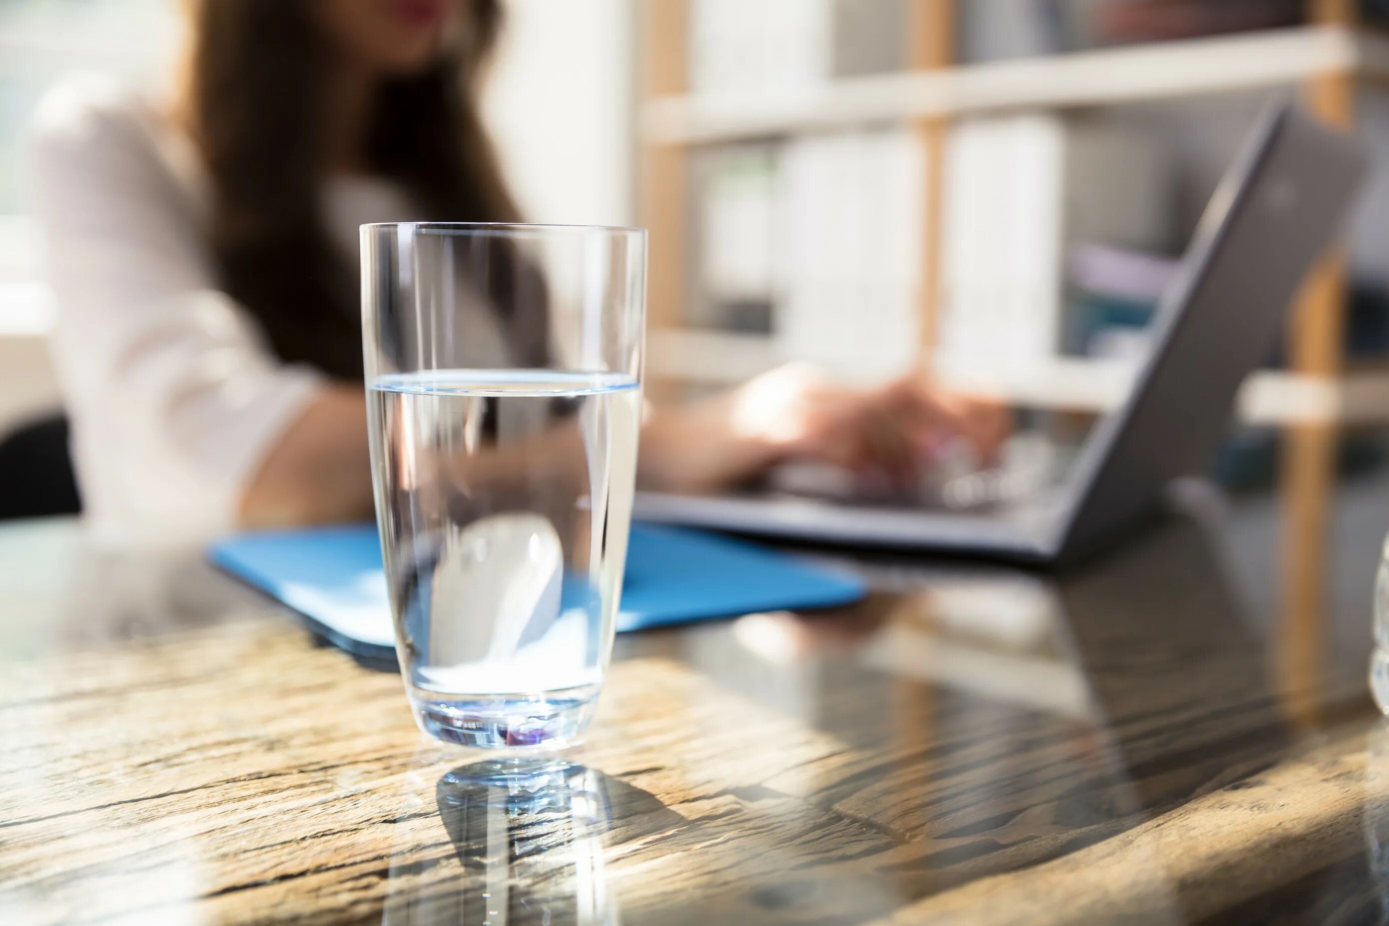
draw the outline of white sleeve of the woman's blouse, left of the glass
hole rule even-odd
[[[89,516],[158,539],[235,525],[276,437],[321,387],[219,292],[200,210],[138,104],[50,96],[29,179],[58,310],[54,358]]]

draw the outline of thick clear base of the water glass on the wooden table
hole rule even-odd
[[[588,698],[440,698],[417,691],[411,708],[429,736],[481,750],[543,752],[571,746],[593,719]]]

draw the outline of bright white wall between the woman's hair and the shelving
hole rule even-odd
[[[632,0],[507,0],[483,117],[525,218],[628,225]]]

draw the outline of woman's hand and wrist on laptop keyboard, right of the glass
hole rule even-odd
[[[789,365],[704,403],[654,412],[638,480],[663,491],[715,491],[786,460],[906,485],[951,441],[990,460],[1007,436],[997,405],[951,396],[922,376],[850,389]]]

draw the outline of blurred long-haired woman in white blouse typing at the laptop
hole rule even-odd
[[[57,90],[33,144],[56,354],[99,530],[201,539],[371,512],[357,226],[518,221],[478,117],[499,0],[196,0],[175,100]],[[479,312],[497,362],[543,321]],[[639,480],[717,487],[790,455],[913,469],[963,405],[783,369],[654,412]]]

